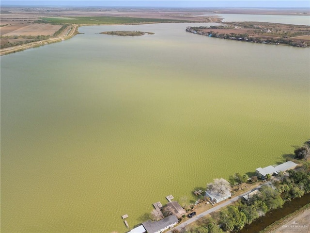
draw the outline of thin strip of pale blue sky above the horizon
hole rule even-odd
[[[307,7],[309,0],[1,0],[4,5],[135,7]]]

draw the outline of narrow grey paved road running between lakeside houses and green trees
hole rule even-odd
[[[266,182],[266,183],[270,183],[270,182]],[[215,207],[213,207],[213,208],[211,208],[211,209],[209,209],[209,210],[207,210],[207,211],[205,211],[205,212],[202,212],[200,215],[194,216],[194,217],[192,217],[192,218],[186,220],[185,222],[182,222],[180,225],[178,225],[178,226],[176,226],[176,227],[174,227],[174,228],[181,230],[181,229],[185,228],[186,225],[188,225],[188,224],[190,224],[190,223],[192,223],[192,222],[194,222],[194,221],[197,221],[199,218],[202,218],[203,216],[206,216],[206,215],[208,215],[208,214],[210,214],[210,213],[212,213],[212,212],[214,212],[214,211],[217,211],[217,210],[219,210],[220,208],[222,208],[222,207],[224,207],[224,206],[227,206],[227,205],[229,205],[229,204],[232,204],[233,202],[235,202],[235,201],[238,200],[239,198],[242,198],[243,196],[247,195],[248,193],[254,191],[254,190],[257,189],[257,188],[260,188],[262,185],[264,185],[264,184],[266,184],[266,183],[263,183],[263,184],[257,186],[256,188],[253,188],[253,189],[251,189],[251,190],[249,190],[249,191],[247,191],[247,192],[245,192],[245,193],[240,194],[239,196],[236,196],[236,197],[234,197],[234,198],[232,198],[232,199],[229,199],[228,201],[225,201],[225,202],[223,202],[222,204],[219,204],[219,205],[217,205],[217,206],[215,206]],[[169,232],[167,232],[167,233],[171,233],[171,231],[169,231]]]

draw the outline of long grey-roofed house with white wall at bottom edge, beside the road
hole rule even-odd
[[[152,222],[151,220],[148,220],[143,222],[142,225],[147,233],[162,233],[169,228],[173,228],[173,226],[176,225],[178,221],[179,220],[175,215],[171,215],[159,221]]]

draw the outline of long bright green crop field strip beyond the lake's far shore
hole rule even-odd
[[[159,18],[134,18],[134,17],[53,17],[41,18],[38,23],[52,24],[139,24],[139,23],[168,23],[168,22],[188,22],[187,20],[159,19]]]

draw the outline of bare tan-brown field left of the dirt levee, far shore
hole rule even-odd
[[[17,25],[16,25],[17,26]],[[52,35],[58,31],[62,25],[51,25],[51,24],[31,24],[18,28],[10,33],[3,34],[4,36],[14,35]]]

